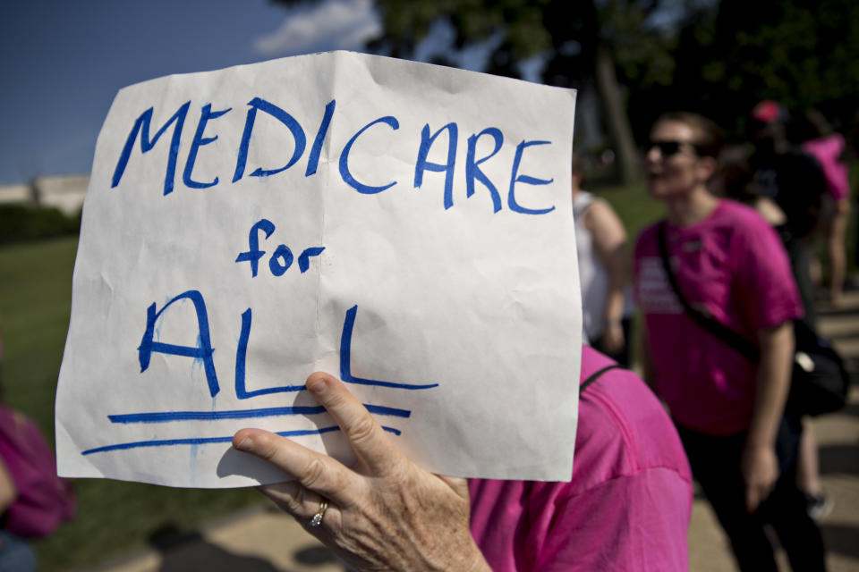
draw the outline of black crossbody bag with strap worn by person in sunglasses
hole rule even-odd
[[[731,348],[736,349],[751,363],[758,363],[761,359],[761,350],[756,343],[744,338],[715,318],[703,315],[685,299],[677,287],[674,272],[668,261],[665,222],[659,223],[658,234],[659,257],[662,258],[662,267],[668,276],[671,289],[674,290],[686,314],[693,319],[695,324],[710,332],[720,341],[724,341]],[[838,352],[832,348],[829,340],[818,336],[802,320],[794,320],[794,337],[794,366],[790,379],[790,393],[785,408],[787,413],[794,416],[816,416],[843,408],[847,402],[850,377]]]

